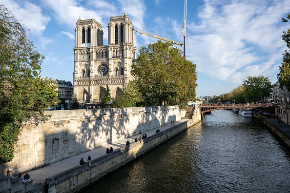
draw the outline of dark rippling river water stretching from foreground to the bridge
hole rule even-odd
[[[290,193],[290,151],[256,119],[212,113],[83,192]]]

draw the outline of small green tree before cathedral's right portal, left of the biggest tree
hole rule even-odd
[[[139,92],[138,84],[136,81],[129,81],[124,86],[123,93],[121,93],[112,102],[112,108],[136,107],[138,102],[142,102],[142,94]]]

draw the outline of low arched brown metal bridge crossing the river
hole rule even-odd
[[[202,104],[199,105],[200,114],[220,110],[220,109],[251,109],[255,111],[267,112],[270,114],[275,113],[273,105],[263,104]]]

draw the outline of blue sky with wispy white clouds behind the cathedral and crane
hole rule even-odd
[[[41,77],[72,82],[76,21],[96,19],[104,30],[126,11],[135,30],[183,42],[184,0],[1,0],[45,56]],[[281,39],[290,28],[282,17],[290,0],[187,0],[186,58],[197,65],[197,96],[230,92],[248,76],[277,81]],[[158,39],[134,34],[137,50]],[[176,45],[180,49],[182,47]]]

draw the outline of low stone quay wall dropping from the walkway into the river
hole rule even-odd
[[[199,116],[201,117],[201,116]],[[200,121],[200,118],[196,120]],[[151,149],[164,143],[166,140],[185,131],[196,122],[189,119],[186,122],[162,131],[156,135],[149,136],[141,142],[134,142],[124,146],[111,154],[92,160],[92,167],[79,165],[70,170],[64,171],[46,178],[46,189],[48,193],[80,192],[82,189],[94,184],[102,177],[111,174],[123,167],[137,157],[145,154]]]

